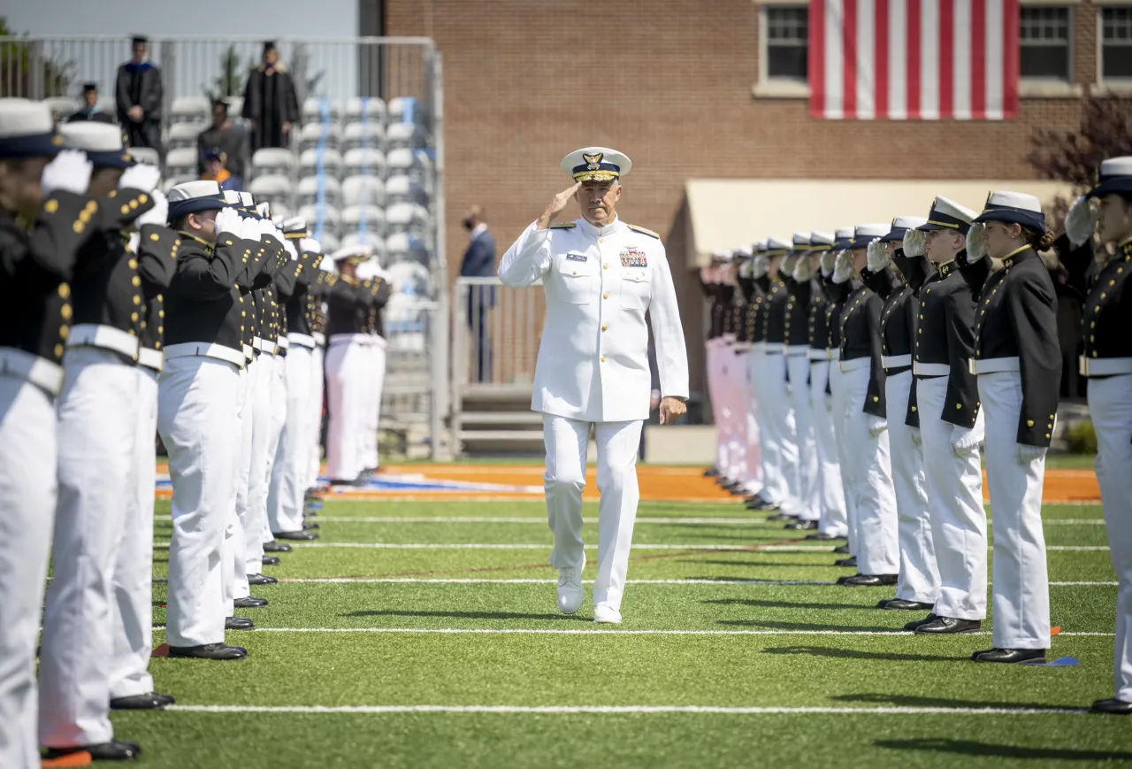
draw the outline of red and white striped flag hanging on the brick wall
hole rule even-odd
[[[1018,0],[811,0],[809,112],[1013,118],[1018,14]]]

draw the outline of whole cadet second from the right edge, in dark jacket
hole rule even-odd
[[[994,523],[993,649],[977,663],[1044,661],[1049,648],[1049,574],[1041,484],[1061,383],[1057,297],[1035,251],[1048,248],[1041,203],[995,191],[967,234],[959,267],[978,298],[975,356],[986,420],[986,471]],[[1002,259],[990,274],[989,259]]]

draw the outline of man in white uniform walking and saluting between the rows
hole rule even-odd
[[[499,280],[541,280],[547,319],[531,409],[542,412],[546,493],[558,569],[558,608],[577,612],[582,570],[582,489],[591,426],[598,445],[598,575],[594,621],[620,622],[640,492],[636,456],[649,416],[648,313],[660,371],[661,425],[685,412],[688,362],[676,290],[657,233],[617,217],[629,159],[606,147],[578,149],[561,168],[575,185],[555,196],[499,263]],[[571,199],[582,219],[555,223]]]

